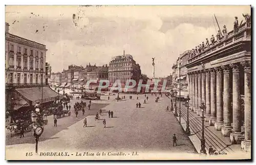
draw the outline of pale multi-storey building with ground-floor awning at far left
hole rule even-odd
[[[46,45],[10,34],[7,22],[5,26],[7,111],[55,100],[57,94],[47,83]]]

